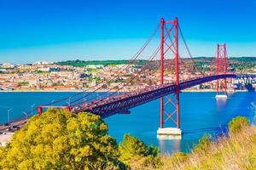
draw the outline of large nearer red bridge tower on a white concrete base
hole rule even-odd
[[[171,62],[172,60],[175,62],[174,65],[176,92],[175,99],[171,99],[168,96],[166,96],[165,99],[164,97],[160,97],[160,127],[157,131],[157,134],[181,135],[182,131],[180,129],[179,115],[179,55],[177,18],[175,18],[174,20],[164,20],[163,18],[161,18],[160,20],[160,85],[163,85],[165,83],[165,67],[168,63],[167,55],[172,55]],[[172,106],[172,108],[174,108],[174,111],[169,112],[171,109],[168,109],[170,107],[167,108],[167,105]],[[167,121],[172,122],[175,127],[164,127]]]

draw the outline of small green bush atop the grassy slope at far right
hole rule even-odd
[[[249,126],[249,121],[245,116],[236,116],[229,122],[230,134],[241,132],[242,128]]]

